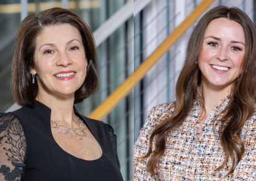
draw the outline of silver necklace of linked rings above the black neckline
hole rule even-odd
[[[76,129],[68,128],[67,129],[64,125],[57,125],[56,121],[51,120],[51,128],[55,128],[56,133],[65,134],[68,138],[72,138],[75,136],[77,139],[83,139],[83,136],[87,135],[87,132],[85,131],[86,125],[85,125],[85,123],[83,123],[83,121],[80,118],[78,118],[77,121],[80,124],[80,128],[76,128]],[[62,133],[62,128],[60,126],[62,126],[62,128],[66,129],[65,133]],[[80,130],[80,131],[78,131],[78,130]]]

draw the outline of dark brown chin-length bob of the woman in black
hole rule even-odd
[[[78,15],[70,10],[54,7],[39,13],[31,13],[20,23],[14,48],[11,79],[14,101],[20,106],[33,106],[38,93],[37,82],[32,83],[30,73],[30,68],[35,67],[36,37],[47,26],[63,24],[69,24],[78,29],[88,61],[86,78],[83,85],[75,91],[74,104],[82,102],[99,88],[97,52],[93,33]]]

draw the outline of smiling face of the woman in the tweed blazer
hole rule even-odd
[[[244,29],[236,21],[217,18],[205,29],[199,68],[202,82],[213,87],[228,87],[241,73],[246,48]]]

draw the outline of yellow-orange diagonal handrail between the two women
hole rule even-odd
[[[117,106],[118,102],[122,101],[125,96],[130,93],[134,85],[138,83],[144,75],[151,69],[152,66],[175,44],[175,42],[186,32],[186,30],[197,20],[198,17],[212,4],[214,0],[204,0],[197,6],[193,12],[178,26],[170,36],[149,56],[133,74],[128,77],[112,94],[105,99],[93,112],[89,115],[90,118],[102,120],[105,115]]]

